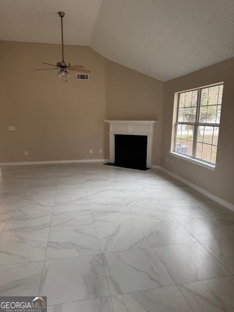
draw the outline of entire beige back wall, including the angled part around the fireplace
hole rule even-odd
[[[159,120],[153,158],[159,164],[163,83],[71,45],[65,60],[92,70],[89,81],[72,73],[65,83],[56,70],[34,71],[50,67],[41,61],[60,59],[57,44],[0,41],[0,162],[109,158],[103,120],[114,118]]]

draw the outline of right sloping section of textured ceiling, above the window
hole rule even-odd
[[[234,0],[104,0],[91,47],[160,80],[234,56]]]

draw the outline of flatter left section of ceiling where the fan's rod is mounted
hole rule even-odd
[[[101,0],[0,0],[0,39],[89,45]]]

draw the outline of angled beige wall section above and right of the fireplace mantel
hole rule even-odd
[[[153,141],[154,165],[160,161],[162,110],[162,81],[106,60],[106,118],[158,120]]]

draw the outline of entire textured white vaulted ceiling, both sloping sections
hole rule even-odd
[[[234,0],[0,0],[0,39],[88,45],[166,81],[234,56]]]

